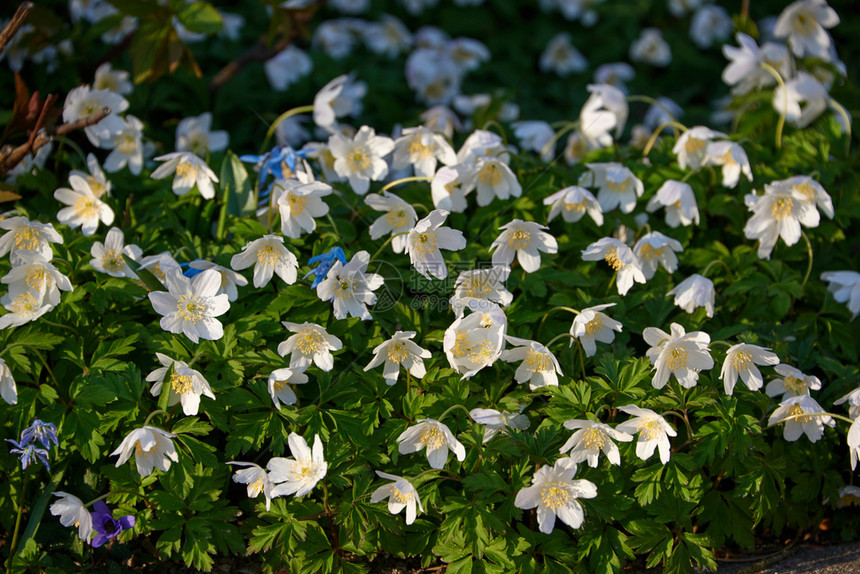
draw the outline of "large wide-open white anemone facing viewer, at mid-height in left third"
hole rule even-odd
[[[167,291],[152,291],[149,300],[161,318],[161,328],[169,333],[184,333],[197,343],[201,338],[215,341],[224,336],[224,328],[215,317],[230,309],[227,295],[218,294],[221,274],[212,269],[193,279],[170,273],[165,278]]]

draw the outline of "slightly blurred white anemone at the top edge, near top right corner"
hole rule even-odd
[[[829,62],[833,40],[825,28],[837,24],[839,15],[826,0],[798,0],[779,15],[773,35],[787,38],[791,51],[798,58],[811,56]]]

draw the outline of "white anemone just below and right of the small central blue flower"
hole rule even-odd
[[[359,251],[344,265],[335,261],[325,279],[317,285],[317,296],[322,301],[331,301],[335,319],[358,317],[364,321],[372,319],[367,305],[376,303],[376,289],[382,287],[382,275],[368,273],[370,254]]]

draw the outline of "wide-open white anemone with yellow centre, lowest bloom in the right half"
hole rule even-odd
[[[562,458],[550,467],[538,469],[532,477],[532,485],[520,490],[514,506],[528,510],[537,508],[538,528],[550,534],[555,528],[556,517],[571,528],[579,528],[585,520],[585,511],[578,498],[594,498],[597,486],[591,481],[573,480],[576,463],[569,457]]]

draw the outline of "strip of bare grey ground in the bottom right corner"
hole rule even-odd
[[[860,574],[860,543],[798,546],[784,553],[763,555],[755,561],[721,561],[717,573]]]

